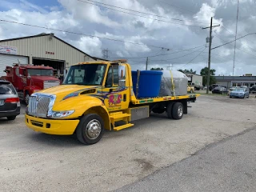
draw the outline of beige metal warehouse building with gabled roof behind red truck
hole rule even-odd
[[[64,74],[72,64],[96,61],[82,50],[71,46],[54,34],[0,40],[0,77],[6,66],[14,63],[52,66]]]

